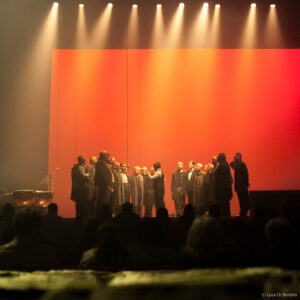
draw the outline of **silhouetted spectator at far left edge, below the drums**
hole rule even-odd
[[[5,203],[2,207],[2,218],[0,220],[0,245],[4,245],[14,238],[13,217],[15,208],[10,203]]]

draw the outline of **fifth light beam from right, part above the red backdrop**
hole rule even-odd
[[[166,47],[176,48],[182,38],[184,18],[184,3],[180,3],[169,26],[167,32]]]

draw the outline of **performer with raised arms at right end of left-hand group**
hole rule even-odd
[[[153,180],[154,187],[154,206],[156,212],[159,208],[165,207],[164,195],[165,195],[165,176],[161,170],[160,162],[153,164],[154,174],[149,177]]]

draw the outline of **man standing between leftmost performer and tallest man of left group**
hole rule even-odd
[[[86,167],[86,173],[90,174],[89,180],[87,181],[87,214],[89,217],[95,216],[95,205],[96,205],[96,191],[95,191],[95,166],[97,163],[97,157],[92,156],[90,163]]]

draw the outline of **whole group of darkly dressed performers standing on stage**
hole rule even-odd
[[[177,170],[172,174],[171,192],[176,215],[183,214],[188,203],[193,205],[197,215],[205,214],[211,205],[218,205],[222,216],[230,216],[230,200],[233,196],[233,178],[230,167],[234,170],[234,188],[240,204],[240,215],[246,216],[249,204],[249,175],[242,155],[236,153],[228,164],[224,153],[213,156],[212,163],[203,168],[201,163],[188,162],[184,170],[179,161]],[[133,210],[139,216],[145,207],[145,217],[152,217],[153,206],[156,210],[165,207],[165,178],[160,162],[146,167],[136,166],[131,175],[129,165],[119,163],[106,151],[100,152],[99,158],[92,156],[86,166],[83,156],[71,171],[71,200],[76,203],[76,217],[93,217],[96,210],[108,204],[113,214],[121,212],[126,202],[131,202]]]

